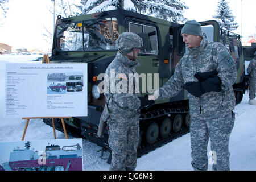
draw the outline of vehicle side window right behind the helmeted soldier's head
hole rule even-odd
[[[150,39],[148,48],[141,50],[140,54],[158,54],[158,38],[156,34],[156,27],[145,24],[129,23],[129,31],[135,34],[147,33]]]

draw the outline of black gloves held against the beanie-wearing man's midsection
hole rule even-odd
[[[207,92],[220,92],[221,91],[221,80],[220,77],[214,76],[207,78],[202,82],[187,82],[183,85],[183,88],[191,93],[193,96],[200,97]]]

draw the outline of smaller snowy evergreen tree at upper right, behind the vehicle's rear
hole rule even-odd
[[[218,1],[217,14],[213,16],[220,24],[220,28],[225,28],[226,30],[236,30],[238,28],[238,23],[235,22],[235,18],[232,15],[232,10],[229,9],[229,2],[226,0]]]

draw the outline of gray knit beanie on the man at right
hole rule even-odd
[[[196,20],[187,21],[181,30],[182,34],[198,35],[203,38],[201,24],[196,22]]]

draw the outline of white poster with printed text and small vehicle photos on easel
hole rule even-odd
[[[7,63],[5,118],[87,116],[87,64]]]

